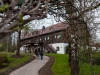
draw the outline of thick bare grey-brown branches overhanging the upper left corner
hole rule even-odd
[[[2,1],[6,7],[1,13],[1,22],[0,22],[0,39],[11,34],[12,29],[17,25],[21,24],[22,26],[28,22],[36,19],[42,19],[46,17],[46,4],[43,4],[43,0],[8,0]],[[1,4],[1,8],[4,6]],[[7,5],[6,5],[7,4]],[[25,18],[23,22],[20,22],[20,15]],[[19,23],[20,22],[20,23]],[[1,40],[0,40],[1,41]]]

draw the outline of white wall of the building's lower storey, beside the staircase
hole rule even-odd
[[[58,54],[65,54],[65,46],[67,46],[67,43],[54,43],[50,44],[52,45],[55,49],[59,47],[59,51],[57,51]]]

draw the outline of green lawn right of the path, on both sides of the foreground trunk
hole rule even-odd
[[[68,55],[67,54],[47,54],[49,56],[55,57],[55,63],[52,66],[52,72],[55,75],[70,75],[70,67],[68,66]],[[100,66],[94,65],[90,66],[87,63],[81,63],[80,65],[80,75],[100,75]]]

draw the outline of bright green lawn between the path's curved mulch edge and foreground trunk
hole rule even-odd
[[[70,75],[70,67],[68,66],[68,55],[66,54],[48,54],[55,57],[55,62],[52,66],[52,72],[55,75]]]

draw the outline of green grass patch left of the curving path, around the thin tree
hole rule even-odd
[[[15,66],[23,63],[24,61],[27,61],[30,58],[29,54],[23,54],[24,57],[22,57],[22,58],[11,58],[11,55],[12,55],[12,53],[8,54],[8,60],[10,61],[9,66],[7,66],[5,68],[1,68],[0,73],[4,72],[12,67],[15,67]]]

